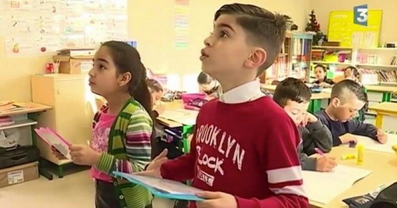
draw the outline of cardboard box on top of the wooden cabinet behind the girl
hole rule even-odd
[[[64,74],[87,74],[92,68],[93,56],[69,56],[54,55],[53,59],[59,60],[59,73]]]

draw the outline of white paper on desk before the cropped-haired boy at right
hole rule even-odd
[[[395,154],[392,146],[397,144],[397,136],[394,134],[388,134],[388,141],[385,144],[381,144],[369,137],[358,136],[349,133],[340,137],[355,137],[357,139],[357,144],[362,144],[366,150]]]

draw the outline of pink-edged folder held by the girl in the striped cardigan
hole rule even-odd
[[[50,146],[57,149],[63,156],[65,156],[67,159],[71,159],[69,151],[70,143],[68,143],[64,138],[50,128],[41,127],[36,128],[34,131],[37,133],[37,135],[39,135],[40,138],[42,138]]]

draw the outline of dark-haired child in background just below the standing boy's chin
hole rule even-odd
[[[201,71],[197,77],[197,82],[200,86],[200,91],[207,94],[209,98],[219,98],[222,94],[222,87],[211,76]]]

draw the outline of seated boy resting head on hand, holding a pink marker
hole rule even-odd
[[[316,116],[307,112],[312,93],[308,86],[299,79],[286,78],[274,90],[273,100],[284,108],[285,112],[298,125],[302,142],[298,154],[303,170],[331,171],[336,165],[334,158],[308,157],[318,148],[328,153],[332,148],[331,132]]]

